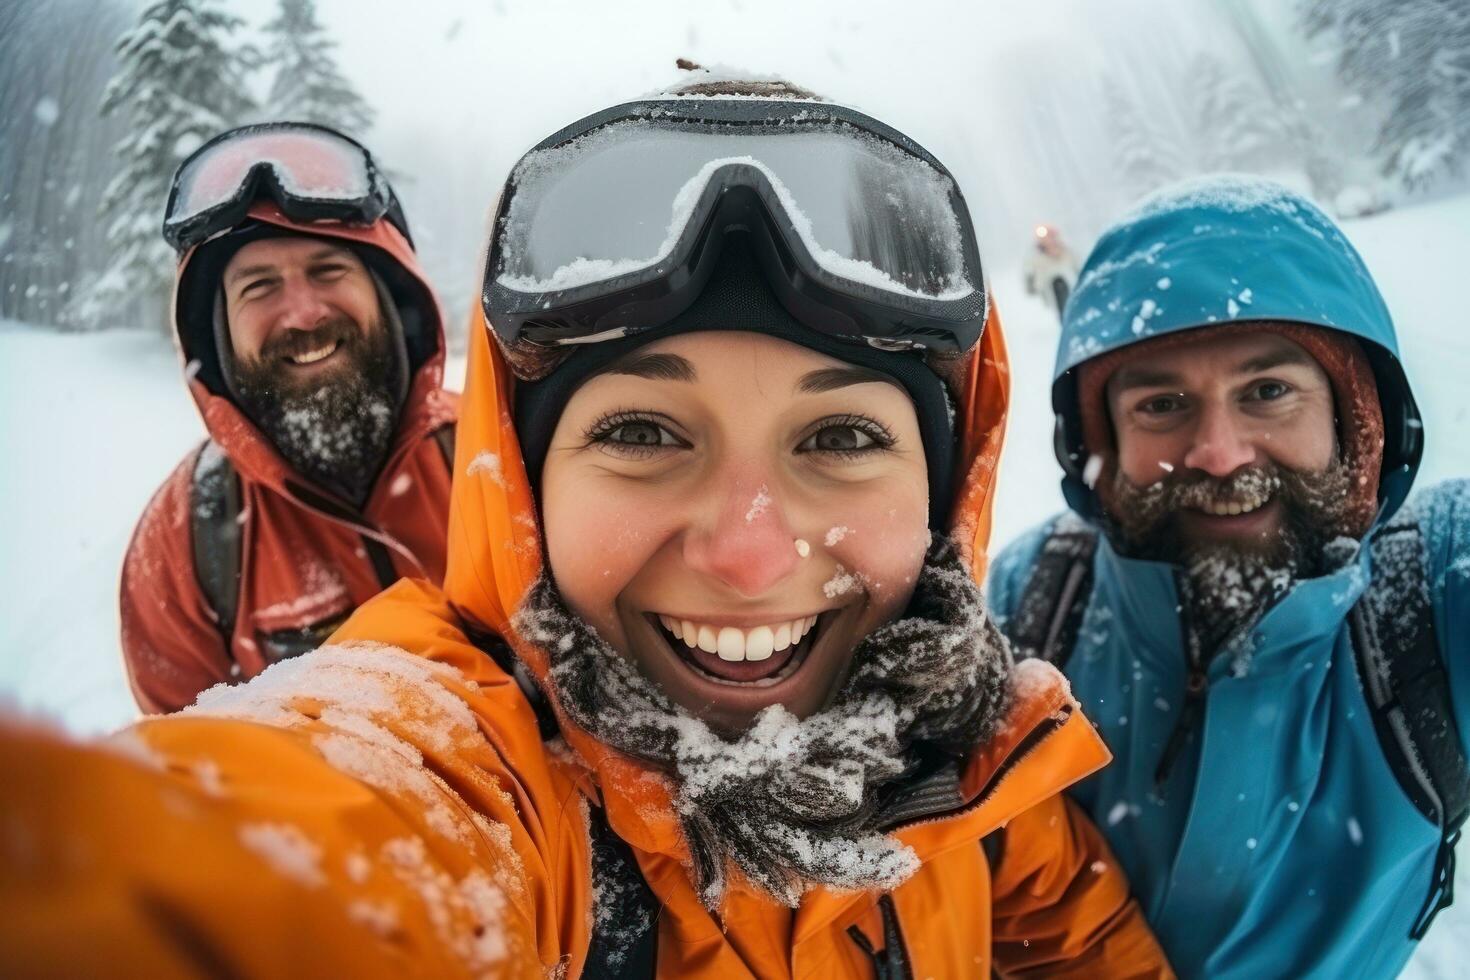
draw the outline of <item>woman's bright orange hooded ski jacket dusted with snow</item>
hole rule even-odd
[[[966,370],[954,527],[979,576],[1007,398],[994,314]],[[510,626],[541,570],[510,383],[481,322],[442,589],[400,582],[328,648],[100,748],[0,730],[0,817],[25,843],[0,848],[0,973],[579,977],[600,807],[662,905],[659,977],[875,977],[869,951],[892,943],[913,977],[1172,976],[1060,795],[1108,754],[1045,664],[1020,669],[964,802],[892,832],[911,879],[795,909],[736,879],[707,911],[664,779],[566,718],[547,738],[470,641],[497,635],[545,676]]]

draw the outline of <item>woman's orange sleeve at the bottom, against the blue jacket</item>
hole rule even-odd
[[[992,868],[1001,976],[1175,976],[1123,870],[1076,804],[1053,796],[1001,833]]]

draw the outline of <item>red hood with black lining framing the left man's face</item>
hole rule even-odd
[[[413,245],[387,220],[369,226],[310,223],[287,217],[273,203],[256,203],[248,216],[285,231],[347,242],[387,287],[403,323],[409,359],[409,392],[398,419],[394,450],[453,419],[453,400],[442,391],[444,314]],[[184,378],[210,438],[251,479],[284,492],[287,480],[304,483],[270,441],[235,404],[220,369],[213,316],[223,272],[210,242],[179,259],[173,285],[173,339]],[[385,467],[387,469],[387,467]]]

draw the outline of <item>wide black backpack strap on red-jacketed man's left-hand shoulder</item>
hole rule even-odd
[[[226,651],[235,635],[235,614],[240,608],[240,476],[223,450],[207,441],[194,460],[190,542],[194,551],[194,577],[215,613]]]

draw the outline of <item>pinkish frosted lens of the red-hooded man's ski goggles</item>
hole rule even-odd
[[[282,192],[303,200],[356,201],[373,190],[363,150],[345,140],[315,131],[256,132],[207,147],[184,167],[169,222],[231,201],[259,166],[270,167]]]

